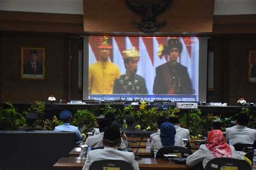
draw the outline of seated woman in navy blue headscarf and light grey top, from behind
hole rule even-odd
[[[174,126],[169,122],[164,122],[160,126],[160,134],[153,136],[150,152],[156,157],[158,150],[163,146],[184,147],[181,136],[176,135]]]

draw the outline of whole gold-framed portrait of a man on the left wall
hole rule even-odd
[[[45,79],[45,48],[21,48],[21,79]]]

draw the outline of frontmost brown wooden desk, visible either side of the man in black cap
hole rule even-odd
[[[84,166],[85,160],[81,158],[60,158],[55,165],[54,168],[57,169],[82,169]],[[194,168],[188,167],[187,165],[176,164],[174,162],[166,161],[164,159],[154,159],[154,158],[142,158],[142,160],[138,160],[140,170],[151,170],[151,169],[198,169],[203,170],[203,166]]]

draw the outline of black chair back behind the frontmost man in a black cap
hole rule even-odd
[[[89,170],[95,170],[95,169],[116,169],[119,168],[120,170],[133,170],[133,167],[130,163],[124,161],[124,160],[97,160],[92,162],[92,164],[89,167]]]

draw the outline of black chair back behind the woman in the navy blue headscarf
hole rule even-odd
[[[164,154],[169,154],[169,153],[181,153],[182,158],[187,158],[189,155],[192,154],[192,151],[186,147],[164,146],[158,150],[156,158],[165,158]]]

